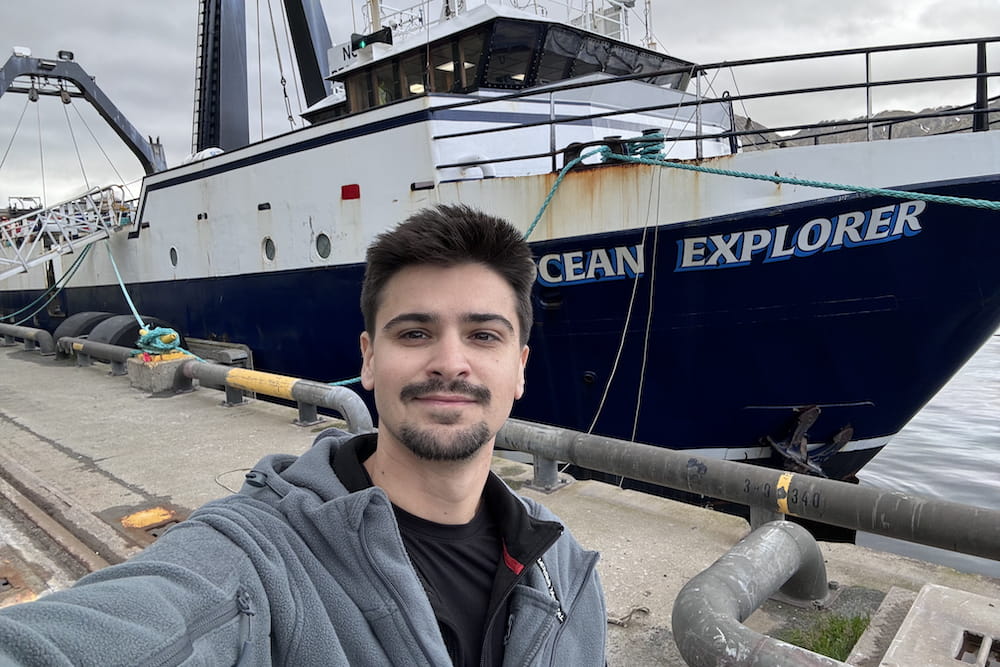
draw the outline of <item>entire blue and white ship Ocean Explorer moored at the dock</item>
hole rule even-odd
[[[461,202],[524,229],[537,258],[516,417],[837,479],[1000,325],[985,63],[1000,38],[696,64],[623,41],[627,3],[375,8],[336,45],[318,3],[287,5],[308,125],[250,143],[245,113],[229,125],[211,113],[232,93],[210,83],[232,79],[205,75],[225,35],[203,21],[200,152],[162,168],[137,149],[150,173],[103,233],[109,251],[72,264],[80,239],[62,253],[57,230],[33,251],[44,261],[8,259],[24,270],[0,282],[4,313],[72,264],[36,324],[126,312],[120,276],[185,336],[246,344],[264,370],[347,380],[366,246]],[[889,119],[869,104],[860,120],[767,129],[742,114],[774,93],[708,85],[738,66],[942,47],[967,48],[969,67],[825,90],[960,81],[971,104]],[[963,131],[901,136],[942,119]],[[8,258],[26,247],[5,239]]]

